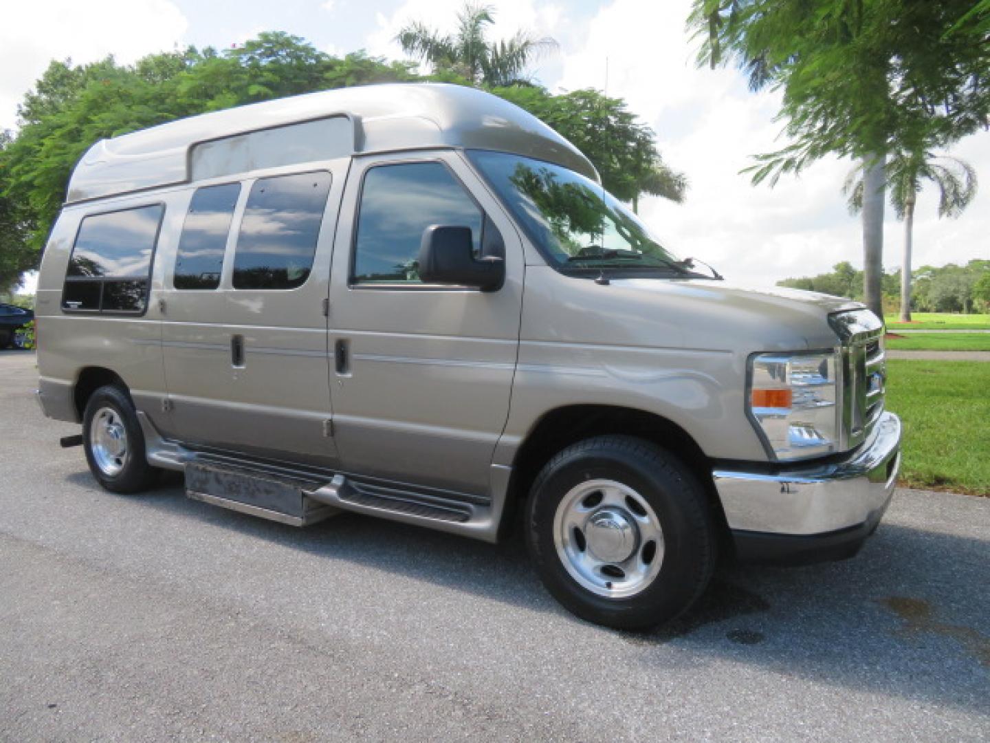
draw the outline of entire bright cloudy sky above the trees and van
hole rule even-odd
[[[401,58],[393,42],[412,19],[451,30],[459,2],[435,0],[30,0],[5,9],[0,26],[0,128],[16,125],[17,102],[50,58],[121,61],[176,46],[218,49],[260,31],[287,31],[321,50]],[[750,93],[734,69],[698,69],[684,30],[690,0],[492,0],[495,38],[526,28],[559,43],[534,65],[551,90],[606,87],[651,126],[660,151],[687,173],[683,205],[657,198],[641,215],[680,256],[695,256],[736,283],[770,286],[787,276],[861,265],[861,231],[844,206],[850,162],[824,159],[776,188],[753,187],[740,170],[779,148],[778,98]],[[54,20],[53,20],[54,19]],[[606,69],[608,75],[606,76]],[[915,266],[990,259],[990,134],[960,143],[987,185],[957,220],[937,218],[923,191]],[[901,265],[902,226],[888,208],[884,265]]]

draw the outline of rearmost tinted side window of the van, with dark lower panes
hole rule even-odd
[[[84,217],[72,246],[62,309],[141,314],[164,206]]]

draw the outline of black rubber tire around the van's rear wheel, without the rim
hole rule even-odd
[[[120,459],[120,471],[114,473],[101,469],[98,456],[94,453],[93,419],[101,410],[106,409],[116,412],[115,420],[122,424],[127,437],[126,455]],[[119,386],[99,387],[89,396],[82,416],[82,447],[86,452],[86,462],[93,477],[111,492],[142,492],[153,485],[158,476],[159,471],[148,465],[145,456],[145,434],[141,430],[131,395]]]

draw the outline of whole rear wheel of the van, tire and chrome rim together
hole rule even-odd
[[[145,435],[130,395],[115,385],[89,397],[82,443],[93,477],[112,492],[147,490],[157,476],[145,457]]]

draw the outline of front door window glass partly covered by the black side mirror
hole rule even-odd
[[[481,250],[482,213],[440,162],[377,165],[364,175],[355,282],[418,282],[420,241],[431,225],[470,227]]]

